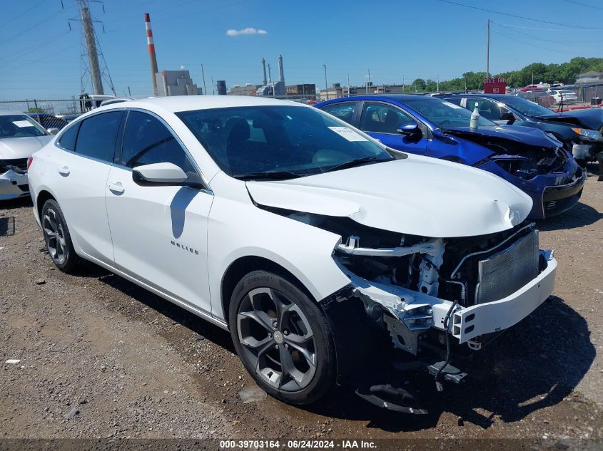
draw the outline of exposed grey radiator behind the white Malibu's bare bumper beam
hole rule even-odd
[[[475,302],[497,301],[515,293],[538,275],[538,231],[533,230],[477,264]]]

